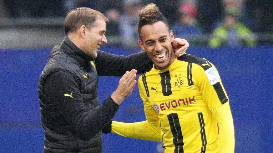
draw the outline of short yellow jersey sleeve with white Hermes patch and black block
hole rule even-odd
[[[229,101],[220,75],[213,64],[209,69],[204,70],[196,65],[195,74],[200,93],[203,95],[210,111]]]

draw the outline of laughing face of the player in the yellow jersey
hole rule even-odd
[[[167,26],[159,21],[141,28],[142,41],[139,45],[155,64],[155,69],[163,70],[169,67],[176,56],[172,49],[173,31],[169,33]]]

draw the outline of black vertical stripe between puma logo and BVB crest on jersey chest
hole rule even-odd
[[[159,73],[161,77],[161,86],[162,86],[162,93],[164,96],[169,96],[172,94],[172,86],[171,86],[171,76],[170,72],[166,71],[163,73]]]

